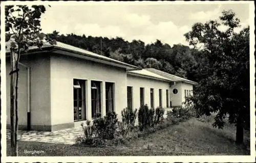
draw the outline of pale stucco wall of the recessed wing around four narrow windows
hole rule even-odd
[[[133,109],[139,109],[140,107],[140,87],[144,88],[144,104],[149,107],[151,107],[150,89],[154,89],[155,108],[159,106],[159,89],[162,89],[162,107],[166,108],[166,90],[169,90],[168,82],[128,74],[127,86],[133,87]]]

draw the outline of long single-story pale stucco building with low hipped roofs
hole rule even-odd
[[[8,128],[9,72],[7,51]],[[109,111],[115,111],[121,119],[125,107],[139,109],[140,105],[148,104],[154,108],[169,108],[171,103],[178,106],[196,84],[61,42],[40,49],[31,48],[23,54],[19,74],[19,128],[40,131],[78,127],[86,120],[93,120],[98,113],[105,116]]]

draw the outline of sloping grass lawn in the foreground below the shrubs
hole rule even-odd
[[[212,118],[201,122],[195,118],[179,125],[138,138],[127,146],[105,148],[82,147],[66,144],[18,142],[19,156],[148,156],[148,155],[249,155],[249,132],[245,132],[245,145],[234,143],[235,127],[227,124],[224,129],[211,126]],[[44,151],[27,154],[25,150]],[[7,156],[10,141],[7,141]]]

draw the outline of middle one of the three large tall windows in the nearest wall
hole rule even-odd
[[[92,118],[96,118],[97,114],[101,114],[100,102],[100,82],[91,82],[91,98],[92,98]]]

